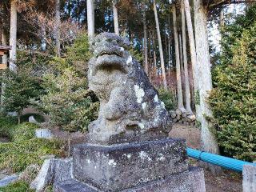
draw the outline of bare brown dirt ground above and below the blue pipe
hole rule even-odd
[[[175,124],[170,131],[173,138],[185,138],[187,146],[200,148],[200,130],[192,126]],[[198,162],[190,159],[191,166],[198,166]],[[221,174],[214,175],[210,171],[205,171],[206,192],[240,192],[242,191],[242,173],[230,170],[223,170]]]

